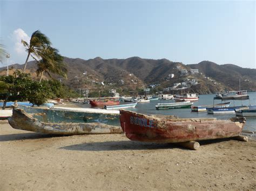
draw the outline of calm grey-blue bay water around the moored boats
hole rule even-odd
[[[256,105],[256,92],[248,93],[250,100],[244,101],[227,101],[231,102],[231,106],[235,105]],[[194,102],[193,105],[206,105],[213,104],[213,97],[215,94],[199,95],[199,101]],[[150,103],[138,103],[136,108],[130,108],[131,111],[136,111],[141,114],[157,114],[157,115],[176,115],[180,118],[198,118],[198,117],[213,117],[217,119],[228,119],[235,117],[235,114],[207,114],[207,111],[203,112],[192,112],[190,108],[183,109],[163,109],[157,110],[157,103],[170,103],[173,100],[152,100]],[[214,103],[221,103],[219,100],[215,100]],[[122,103],[121,103],[122,104]],[[90,107],[89,104],[83,104],[84,107]],[[128,109],[127,109],[128,110]],[[256,116],[246,117],[246,124],[244,130],[256,132]],[[254,134],[255,135],[255,134]]]

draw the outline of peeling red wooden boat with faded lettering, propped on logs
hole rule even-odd
[[[127,138],[140,142],[179,143],[194,140],[237,137],[245,125],[244,117],[177,118],[143,115],[120,110],[120,123]]]

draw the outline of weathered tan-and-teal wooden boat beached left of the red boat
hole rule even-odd
[[[122,133],[118,114],[19,107],[8,118],[14,129],[56,135]]]

